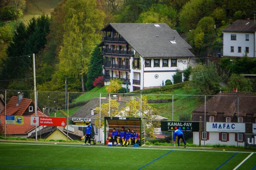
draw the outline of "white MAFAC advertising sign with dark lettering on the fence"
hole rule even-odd
[[[207,132],[236,132],[244,133],[244,123],[218,123],[218,122],[206,122]]]

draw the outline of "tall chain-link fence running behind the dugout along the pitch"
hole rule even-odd
[[[138,140],[145,138],[148,144],[173,144],[174,131],[180,129],[191,146],[251,146],[253,141],[246,140],[246,135],[256,130],[255,103],[254,94],[237,92],[210,96],[37,91],[35,95],[31,91],[2,90],[0,135],[35,140],[82,140],[90,122],[93,142],[105,143],[112,129],[107,128],[105,132],[104,118],[120,117],[141,118],[145,135],[140,135]],[[35,126],[35,117],[49,124]],[[54,121],[59,119],[55,118],[66,119],[57,126]],[[125,130],[133,128],[125,119],[116,130],[119,132],[122,126]],[[141,130],[137,129],[137,133]]]

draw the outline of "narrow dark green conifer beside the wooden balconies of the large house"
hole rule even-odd
[[[101,49],[96,46],[90,58],[90,64],[87,73],[86,89],[93,89],[93,81],[95,78],[103,75],[102,73],[103,57],[101,55]]]

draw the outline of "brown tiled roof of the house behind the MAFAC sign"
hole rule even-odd
[[[239,100],[238,100],[239,96]],[[224,116],[233,116],[238,112],[237,105],[239,102],[239,115],[256,113],[256,95],[253,93],[227,92],[218,93],[206,102],[207,115],[217,115],[224,113]],[[204,114],[204,104],[192,111]]]

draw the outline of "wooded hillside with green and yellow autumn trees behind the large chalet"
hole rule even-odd
[[[50,15],[43,12],[29,21],[24,18],[20,22],[24,14],[29,13],[26,8],[30,6],[29,2],[2,0],[0,3],[0,80],[7,60],[35,53],[37,88],[46,91],[64,91],[66,78],[68,91],[85,92],[93,87],[93,81],[99,78],[100,73],[94,75],[90,70],[90,66],[95,64],[91,58],[97,55],[95,50],[102,40],[100,29],[108,23],[167,23],[187,37],[193,54],[207,57],[221,51],[221,30],[230,21],[253,18],[256,13],[255,0],[55,0],[52,2],[58,5]],[[248,60],[251,60],[247,62],[250,67],[242,65],[239,59],[233,63],[232,69],[225,60],[219,61],[222,63],[218,68],[208,65],[218,71],[222,68],[227,75],[225,78],[219,73],[220,78],[213,77],[216,82],[209,82],[210,93],[218,91],[219,81],[228,81],[231,75],[253,74],[251,66],[255,60]],[[191,75],[193,81],[210,71],[200,66],[196,69],[201,71],[197,72],[198,75]],[[177,80],[180,82],[180,78]],[[32,88],[32,84],[23,87],[19,86],[19,81],[15,81],[16,86],[12,83],[1,84],[1,88]]]

